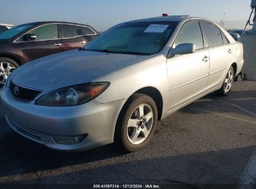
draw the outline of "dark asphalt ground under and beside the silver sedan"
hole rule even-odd
[[[235,188],[245,167],[255,182],[256,167],[250,164],[255,146],[256,81],[237,82],[229,96],[209,94],[168,116],[158,122],[153,141],[131,154],[113,144],[75,153],[48,149],[12,131],[0,104],[0,183],[22,183],[19,188],[29,183]]]

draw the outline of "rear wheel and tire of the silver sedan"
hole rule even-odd
[[[219,96],[227,95],[227,93],[229,93],[229,91],[232,88],[232,85],[234,83],[234,78],[235,78],[234,68],[230,67],[229,71],[227,71],[227,75],[225,76],[225,80],[223,81],[221,88],[215,91],[216,94],[218,94]]]

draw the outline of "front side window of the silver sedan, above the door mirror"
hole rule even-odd
[[[184,43],[196,45],[196,49],[204,48],[202,32],[198,21],[188,22],[183,26],[175,40],[176,46]]]

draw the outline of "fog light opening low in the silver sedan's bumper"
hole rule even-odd
[[[73,136],[73,137],[67,137],[67,136],[53,136],[54,141],[56,144],[62,144],[62,145],[76,145],[82,143],[88,134],[83,134],[80,136]]]

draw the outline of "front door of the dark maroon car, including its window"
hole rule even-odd
[[[22,43],[22,52],[28,61],[62,52],[57,24],[41,25],[28,34],[36,35],[36,40],[23,41],[22,37],[17,40]]]

